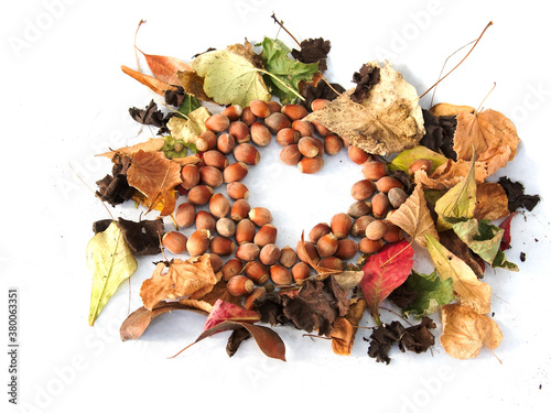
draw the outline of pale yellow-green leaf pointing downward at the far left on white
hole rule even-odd
[[[93,326],[120,283],[137,270],[138,263],[116,221],[91,238],[86,247],[86,258],[93,273],[88,316],[88,323]]]

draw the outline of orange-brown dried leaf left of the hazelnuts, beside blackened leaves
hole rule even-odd
[[[128,169],[128,184],[144,194],[153,209],[159,202],[164,204],[161,216],[172,214],[176,206],[174,189],[182,183],[181,166],[168,160],[163,152],[144,152],[142,150],[131,155],[131,166]],[[148,210],[148,211],[149,211]]]

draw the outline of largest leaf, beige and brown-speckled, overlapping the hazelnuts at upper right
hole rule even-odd
[[[377,62],[367,65],[379,67]],[[380,81],[361,104],[349,89],[304,120],[316,121],[368,153],[387,155],[413,148],[424,134],[423,115],[415,88],[386,63]]]

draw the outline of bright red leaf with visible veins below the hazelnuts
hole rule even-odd
[[[360,286],[375,322],[380,325],[379,304],[400,286],[413,268],[413,248],[408,241],[386,244],[364,265]]]

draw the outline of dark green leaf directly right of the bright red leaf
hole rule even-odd
[[[415,301],[403,308],[406,316],[410,313],[415,317],[433,314],[454,298],[452,279],[444,280],[436,274],[436,271],[429,275],[412,271],[403,287],[417,292]]]

